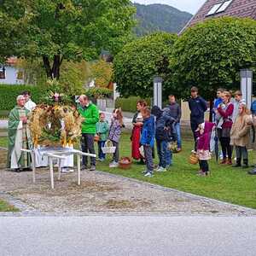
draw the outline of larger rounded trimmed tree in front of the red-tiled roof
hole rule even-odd
[[[239,71],[255,68],[256,21],[224,17],[187,29],[170,59],[171,89],[185,98],[192,85],[213,99],[219,87],[238,89]]]

